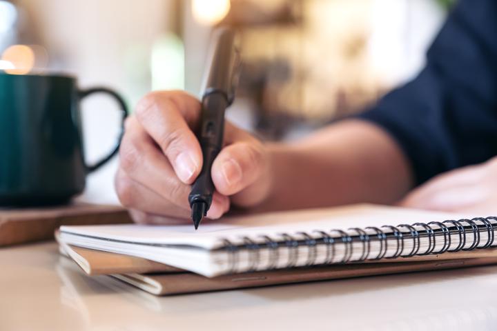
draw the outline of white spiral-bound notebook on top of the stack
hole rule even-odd
[[[193,225],[62,226],[69,245],[215,277],[494,247],[496,217],[377,205],[226,217]]]

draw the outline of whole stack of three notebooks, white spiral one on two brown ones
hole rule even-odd
[[[62,254],[165,295],[497,263],[496,217],[377,205],[193,225],[62,226]]]

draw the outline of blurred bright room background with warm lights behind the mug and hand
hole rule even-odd
[[[216,26],[242,41],[228,118],[264,140],[291,140],[360,112],[415,76],[451,0],[0,0],[0,70],[67,73],[119,91],[130,110],[151,90],[199,95]],[[86,159],[113,146],[119,113],[82,105]],[[115,202],[117,161],[84,197]]]

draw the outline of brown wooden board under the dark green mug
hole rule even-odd
[[[130,223],[128,212],[117,205],[74,203],[50,208],[0,208],[0,247],[53,239],[60,225]]]

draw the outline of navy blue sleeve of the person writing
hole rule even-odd
[[[418,77],[359,115],[387,130],[416,183],[497,155],[497,0],[463,0]]]

